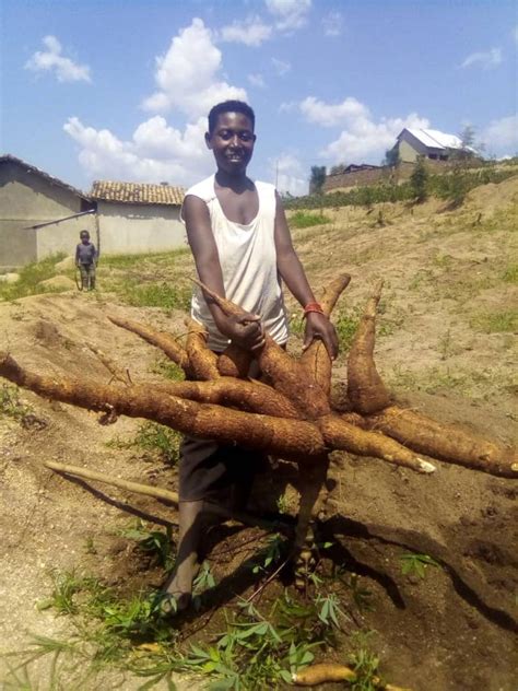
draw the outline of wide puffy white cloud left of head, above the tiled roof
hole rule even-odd
[[[188,186],[213,168],[203,144],[205,118],[180,132],[154,116],[139,125],[129,141],[107,129],[85,127],[76,117],[69,118],[63,129],[80,145],[79,161],[92,178]]]

